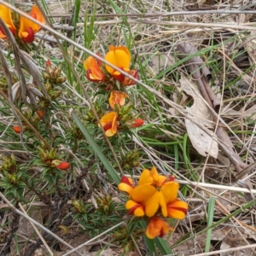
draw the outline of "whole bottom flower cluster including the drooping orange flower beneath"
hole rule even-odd
[[[179,184],[174,177],[159,175],[155,167],[151,171],[143,170],[137,187],[130,177],[122,177],[119,190],[129,195],[125,208],[129,214],[137,217],[148,217],[146,235],[153,239],[164,236],[173,230],[162,218],[183,219],[188,211],[188,205],[177,199]]]

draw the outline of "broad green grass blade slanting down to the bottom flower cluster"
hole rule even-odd
[[[115,172],[115,170],[113,169],[113,166],[110,165],[110,163],[108,162],[108,160],[105,157],[105,155],[102,154],[101,148],[99,148],[99,146],[95,143],[94,139],[90,136],[90,133],[84,127],[83,123],[78,118],[78,116],[74,112],[71,113],[71,116],[72,116],[73,120],[76,122],[76,124],[79,126],[79,129],[83,132],[84,137],[86,137],[88,143],[90,143],[90,146],[94,149],[95,153],[97,154],[99,159],[102,161],[102,164],[107,169],[110,177],[112,177],[113,181],[116,184],[118,184],[119,181],[120,181],[119,175]]]

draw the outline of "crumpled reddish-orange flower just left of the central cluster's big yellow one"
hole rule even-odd
[[[91,82],[102,82],[104,73],[102,73],[102,62],[90,56],[84,61],[84,69],[86,70],[86,78]]]

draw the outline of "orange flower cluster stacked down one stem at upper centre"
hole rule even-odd
[[[131,54],[125,46],[115,47],[110,45],[105,60],[133,78],[138,79],[137,70],[130,69]],[[113,67],[103,65],[102,61],[92,56],[84,61],[84,69],[87,79],[97,82],[101,86],[103,85],[105,90],[110,91],[108,103],[113,111],[103,115],[100,120],[101,124],[99,124],[99,127],[102,125],[107,137],[113,137],[124,126],[136,128],[143,125],[143,119],[137,119],[137,117],[131,115],[131,106],[121,108],[125,105],[125,99],[129,96],[124,91],[117,89],[119,89],[119,85],[121,85],[122,90],[125,90],[125,86],[136,84],[132,79],[127,78]]]

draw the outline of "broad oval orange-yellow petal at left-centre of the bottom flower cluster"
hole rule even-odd
[[[143,203],[148,201],[149,197],[154,195],[155,191],[156,189],[153,186],[144,184],[133,189],[130,196],[133,201]]]

